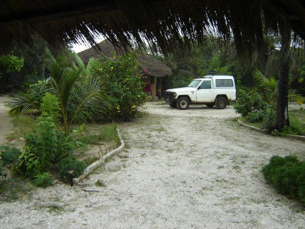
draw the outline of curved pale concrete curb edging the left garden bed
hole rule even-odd
[[[77,184],[80,180],[84,179],[86,176],[88,176],[90,173],[92,173],[96,168],[98,168],[99,166],[101,166],[106,159],[110,159],[114,156],[116,156],[117,154],[119,154],[120,152],[124,151],[125,149],[125,143],[122,140],[121,134],[120,134],[120,130],[117,129],[117,136],[119,137],[119,140],[121,142],[121,145],[114,149],[113,151],[110,151],[108,154],[106,154],[105,156],[102,156],[98,161],[93,162],[91,165],[89,165],[85,170],[84,173],[79,176],[78,178],[74,178],[73,179],[73,183]]]

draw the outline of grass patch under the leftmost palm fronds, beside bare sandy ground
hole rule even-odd
[[[11,121],[14,125],[13,132],[6,135],[6,139],[19,139],[25,133],[31,133],[36,127],[36,117],[34,115],[20,114]]]

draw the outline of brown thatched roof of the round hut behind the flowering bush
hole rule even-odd
[[[103,53],[106,57],[111,57],[112,53],[117,53],[117,55],[124,54],[124,51],[117,50],[114,46],[107,40],[100,42],[99,49],[100,53]],[[80,53],[77,53],[78,56],[82,59],[85,65],[88,64],[90,58],[101,58],[101,55],[96,52],[96,48],[91,47]],[[155,77],[165,77],[172,75],[172,69],[167,65],[163,64],[161,61],[152,58],[151,56],[146,55],[145,53],[140,53],[136,59],[143,69],[147,70],[145,75],[155,76]]]

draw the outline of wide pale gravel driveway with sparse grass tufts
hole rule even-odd
[[[56,184],[1,203],[2,228],[304,228],[305,213],[261,173],[304,143],[226,120],[224,110],[148,103],[119,128],[126,150],[79,186]],[[102,180],[106,187],[95,185]],[[82,190],[99,192],[85,192]]]

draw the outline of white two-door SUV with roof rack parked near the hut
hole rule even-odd
[[[163,95],[171,107],[180,110],[187,109],[190,104],[224,109],[230,101],[236,100],[236,89],[231,75],[206,75],[194,79],[187,87],[167,89]]]

